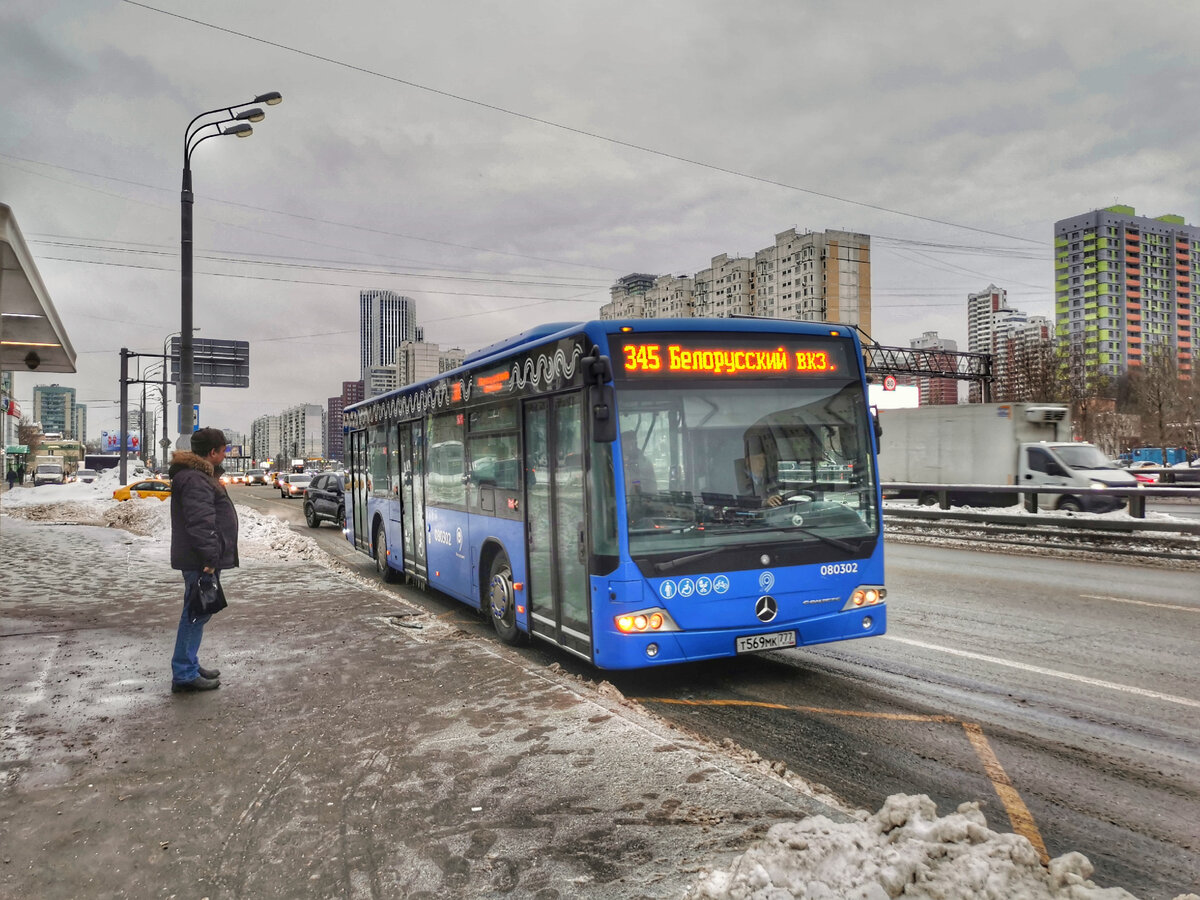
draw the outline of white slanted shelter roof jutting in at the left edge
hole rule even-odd
[[[0,370],[74,372],[76,352],[12,210],[0,203]]]

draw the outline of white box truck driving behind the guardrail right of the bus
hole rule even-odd
[[[1105,487],[1136,487],[1138,480],[1094,444],[1070,439],[1070,413],[1045,403],[961,403],[878,410],[880,480],[913,485],[958,485],[950,503],[1003,506],[1016,494],[972,492],[973,485],[1078,487],[1046,494],[1043,503],[1064,510],[1110,512],[1123,498]],[[907,493],[907,492],[906,492]],[[932,503],[932,490],[917,490]]]

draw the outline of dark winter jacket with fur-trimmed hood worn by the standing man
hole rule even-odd
[[[187,451],[170,461],[170,568],[238,566],[238,512],[217,473]]]

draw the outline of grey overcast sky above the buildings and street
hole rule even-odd
[[[362,288],[470,350],[791,227],[872,236],[875,338],[965,349],[990,282],[1054,314],[1056,220],[1200,224],[1196,35],[1194,0],[4,0],[0,202],[79,354],[17,397],[115,427],[119,349],[180,326],[185,126],[272,90],[193,158],[198,337],[251,342],[204,425],[356,379]]]

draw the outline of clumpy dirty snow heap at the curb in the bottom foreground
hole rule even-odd
[[[925,796],[893,794],[858,822],[826,816],[773,826],[727,871],[703,876],[689,900],[1132,900],[1088,881],[1064,853],[1043,868],[1033,845],[988,828],[977,803],[938,817]],[[1176,900],[1200,900],[1181,894]]]

